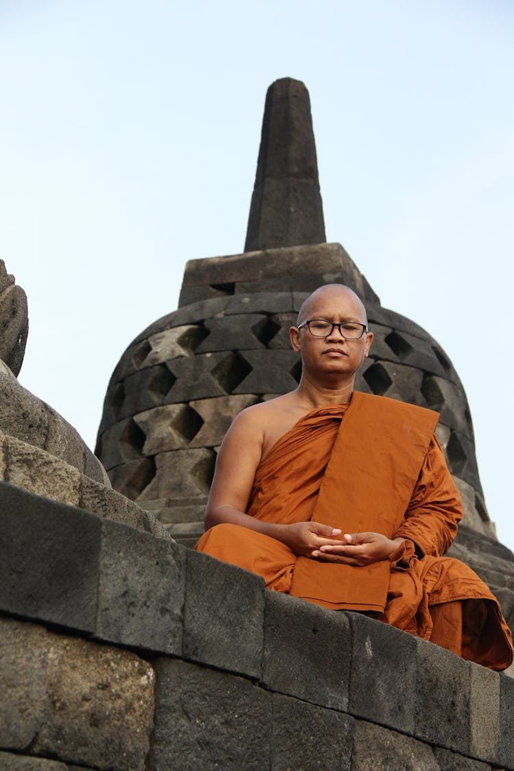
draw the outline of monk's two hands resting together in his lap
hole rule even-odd
[[[364,567],[388,560],[403,539],[381,533],[345,533],[319,522],[283,525],[281,540],[299,557]]]

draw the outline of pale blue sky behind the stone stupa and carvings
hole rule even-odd
[[[264,96],[291,76],[328,241],[451,357],[514,549],[513,32],[511,0],[1,0],[22,385],[94,446],[111,372],[176,308],[186,261],[243,250]]]

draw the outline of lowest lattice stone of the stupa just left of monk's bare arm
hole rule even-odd
[[[155,456],[156,473],[138,497],[138,503],[154,498],[196,497],[209,493],[214,473],[212,449],[179,449]]]

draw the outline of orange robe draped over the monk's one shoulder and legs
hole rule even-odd
[[[371,614],[506,668],[512,636],[496,598],[471,568],[441,556],[462,505],[435,438],[437,420],[432,410],[354,392],[349,405],[309,412],[257,468],[248,514],[404,537],[394,563],[354,567],[297,557],[281,541],[233,524],[207,530],[197,550],[262,575],[267,588]]]

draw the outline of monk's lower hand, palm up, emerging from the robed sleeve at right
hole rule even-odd
[[[381,533],[344,534],[344,541],[324,544],[315,550],[311,556],[323,562],[340,562],[345,565],[364,567],[373,562],[388,560],[391,554],[398,551],[403,544],[403,538],[390,538]]]

